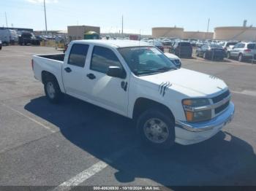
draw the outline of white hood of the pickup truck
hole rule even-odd
[[[181,87],[178,88],[179,90],[188,89],[189,91],[187,92],[191,92],[192,90],[202,96],[218,93],[220,90],[225,90],[227,88],[227,85],[222,79],[189,69],[177,69],[139,78],[154,83],[155,85],[169,84],[170,82],[171,86],[169,88],[178,86]],[[186,92],[182,93],[187,95]]]

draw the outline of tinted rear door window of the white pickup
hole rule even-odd
[[[84,67],[86,63],[86,55],[89,49],[88,44],[73,44],[69,53],[68,64],[78,67]]]

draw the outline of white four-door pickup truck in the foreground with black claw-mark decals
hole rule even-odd
[[[154,147],[204,141],[233,119],[225,82],[178,69],[146,42],[73,41],[65,55],[34,55],[31,64],[50,102],[68,94],[129,117]]]

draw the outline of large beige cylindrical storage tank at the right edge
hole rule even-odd
[[[256,27],[228,26],[214,28],[214,39],[218,40],[238,40],[255,41]]]

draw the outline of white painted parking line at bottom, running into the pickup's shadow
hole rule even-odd
[[[135,149],[135,144],[129,145],[129,147],[125,147],[124,149],[121,149],[118,152],[114,152],[113,155],[110,155],[110,157],[105,158],[104,160],[107,163],[113,163],[114,161],[118,160],[121,156],[123,156],[125,153],[129,152],[129,150]],[[62,184],[59,184],[58,187],[55,187],[51,191],[69,191],[72,190],[74,187],[78,186],[82,182],[86,181],[87,179],[91,178],[91,176],[94,176],[95,174],[102,171],[104,168],[108,167],[108,164],[99,161],[98,163],[95,163],[94,165],[91,165],[91,167],[87,168],[86,170],[80,172],[80,174],[77,174],[76,176],[72,177],[66,182],[63,182]]]

